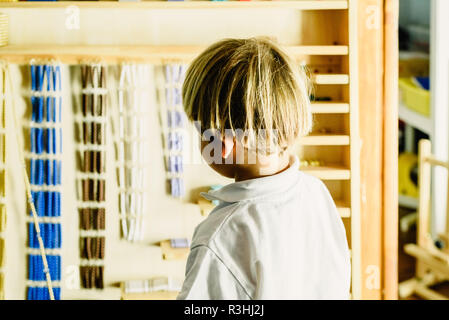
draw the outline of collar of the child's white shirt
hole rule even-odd
[[[299,160],[297,156],[292,155],[289,159],[289,167],[280,173],[230,183],[218,190],[202,192],[201,195],[208,200],[224,202],[249,200],[286,191],[298,182],[299,177]]]

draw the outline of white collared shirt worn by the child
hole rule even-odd
[[[343,222],[297,157],[276,175],[203,196],[220,204],[195,229],[177,299],[349,298]]]

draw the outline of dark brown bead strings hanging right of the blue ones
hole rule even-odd
[[[81,66],[80,278],[83,288],[104,287],[106,228],[106,68]],[[95,263],[93,263],[95,262]]]

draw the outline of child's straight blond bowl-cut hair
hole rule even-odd
[[[182,88],[190,120],[202,129],[261,130],[285,150],[312,126],[304,70],[266,38],[224,39],[189,66]]]

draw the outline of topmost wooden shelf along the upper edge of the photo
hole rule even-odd
[[[338,10],[347,9],[347,0],[297,0],[297,1],[55,1],[55,2],[1,2],[0,8],[119,8],[119,9],[299,9]]]

